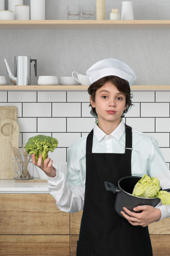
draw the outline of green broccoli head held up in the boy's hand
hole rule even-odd
[[[38,161],[40,155],[42,155],[42,164],[48,156],[48,152],[53,152],[57,148],[58,140],[50,136],[37,135],[30,137],[25,145],[25,151],[27,153],[35,154],[35,159]]]

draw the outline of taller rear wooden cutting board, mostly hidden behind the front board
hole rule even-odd
[[[17,121],[17,107],[14,106],[1,106],[0,107],[0,121],[3,119],[14,119]],[[11,124],[5,124],[2,127],[2,132],[4,135],[10,135],[12,133],[12,126]]]

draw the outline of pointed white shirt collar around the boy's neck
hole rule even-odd
[[[120,137],[122,137],[123,133],[125,132],[125,123],[123,121],[120,122],[119,126],[116,127],[116,129],[110,134],[106,135],[106,133],[103,132],[97,125],[97,121],[94,124],[94,135],[96,136],[97,140],[102,140],[105,136],[112,136],[115,139],[119,140]]]

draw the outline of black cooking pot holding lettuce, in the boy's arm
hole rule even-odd
[[[123,207],[135,212],[133,211],[133,208],[136,206],[151,205],[155,207],[159,203],[160,199],[158,197],[144,198],[132,195],[133,188],[141,178],[142,177],[137,176],[123,177],[118,181],[118,187],[107,181],[104,182],[106,190],[116,194],[115,210],[121,217],[123,217],[120,213],[123,210]],[[166,191],[170,191],[170,189],[167,189]]]

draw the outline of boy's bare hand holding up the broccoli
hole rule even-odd
[[[45,159],[44,163],[42,164],[42,155],[39,156],[38,161],[36,162],[35,155],[32,154],[32,164],[41,168],[48,177],[54,178],[56,176],[56,171],[53,167],[53,160],[51,160],[51,158]]]

